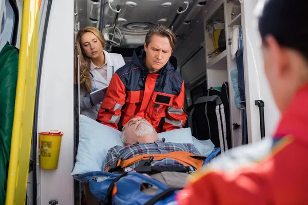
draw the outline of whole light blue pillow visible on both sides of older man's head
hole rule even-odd
[[[158,134],[165,142],[194,144],[202,156],[214,149],[210,140],[201,141],[191,136],[190,128],[170,130]],[[124,146],[121,132],[85,116],[80,115],[79,146],[76,163],[71,175],[102,171],[107,152],[114,146]]]

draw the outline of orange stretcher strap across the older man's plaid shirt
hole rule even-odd
[[[143,158],[151,156],[153,157],[153,160],[162,160],[165,158],[174,159],[178,162],[181,162],[184,166],[191,166],[194,167],[196,170],[201,169],[203,161],[206,159],[206,157],[194,155],[189,152],[183,151],[169,152],[165,154],[143,154],[126,160],[119,159],[117,162],[117,167],[125,168],[142,160]],[[105,170],[105,172],[108,172],[108,170],[109,167]]]

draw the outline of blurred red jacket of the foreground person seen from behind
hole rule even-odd
[[[273,138],[217,157],[190,177],[178,204],[307,204],[307,105],[308,84],[282,113]]]

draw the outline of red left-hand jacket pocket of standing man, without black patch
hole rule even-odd
[[[124,113],[128,116],[136,115],[141,107],[143,91],[128,91]]]

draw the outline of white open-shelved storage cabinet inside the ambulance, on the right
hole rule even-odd
[[[211,12],[208,12],[208,11]],[[235,126],[237,129],[232,129],[232,139],[233,139],[233,147],[239,146],[243,144],[243,134],[242,128],[245,123],[241,120],[241,112],[243,112],[235,104],[235,90],[232,83],[232,75],[231,72],[237,69],[236,58],[232,58],[232,46],[233,44],[238,45],[238,42],[232,42],[232,31],[233,28],[239,27],[241,25],[241,10],[240,3],[238,1],[215,1],[212,2],[209,8],[204,12],[204,37],[206,42],[206,57],[207,57],[207,86],[216,87],[221,86],[224,81],[227,81],[229,84],[229,108],[230,108],[230,126]],[[213,31],[215,30],[215,23],[220,21],[223,25],[219,29],[220,37],[224,36],[224,44],[221,42],[221,47],[224,45],[225,50],[222,52],[214,52],[213,53],[213,40],[215,40],[215,36]],[[223,30],[223,32],[222,32]],[[222,40],[221,40],[222,41]],[[237,81],[237,79],[236,79]],[[233,126],[232,126],[233,127]]]

